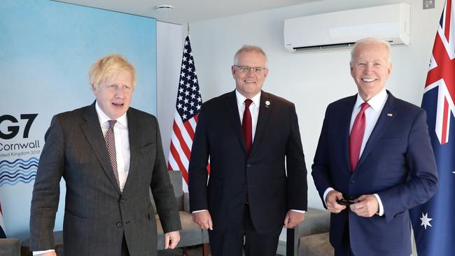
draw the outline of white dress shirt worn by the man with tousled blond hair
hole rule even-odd
[[[111,120],[111,118],[99,108],[98,102],[95,104],[95,109],[97,111],[99,125],[101,125],[103,131],[103,136],[106,136],[106,132],[109,129],[108,121]],[[114,125],[114,137],[116,138],[118,181],[120,183],[120,191],[123,191],[128,172],[130,171],[130,138],[128,137],[128,120],[126,113],[117,119],[116,125]],[[53,251],[55,250],[36,250],[33,252],[33,255],[50,253]]]

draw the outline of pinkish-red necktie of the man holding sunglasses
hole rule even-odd
[[[352,125],[351,136],[349,136],[349,162],[351,162],[351,171],[354,171],[358,164],[363,134],[365,134],[365,110],[369,107],[370,105],[366,102],[360,105],[360,112],[357,114],[356,120],[354,120],[354,124]]]

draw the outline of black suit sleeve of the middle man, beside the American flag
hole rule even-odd
[[[207,110],[202,105],[195,131],[188,167],[190,211],[208,209],[207,204],[207,163],[209,161],[209,138],[207,136]]]

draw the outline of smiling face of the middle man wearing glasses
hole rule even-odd
[[[256,72],[254,69],[249,69],[249,71],[241,71],[238,66],[265,68],[266,62],[265,56],[260,54],[260,52],[243,51],[239,53],[237,64],[232,66],[232,77],[235,79],[237,91],[246,99],[253,98],[262,90],[262,85],[265,78],[267,78],[269,70],[261,69],[261,71]]]

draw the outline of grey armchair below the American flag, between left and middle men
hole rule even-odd
[[[190,213],[190,200],[188,193],[183,193],[182,173],[181,171],[169,171],[169,178],[174,187],[174,194],[179,207],[180,221],[182,230],[180,231],[180,242],[177,245],[183,248],[183,254],[186,255],[187,246],[203,245],[204,256],[209,255],[209,235],[207,230],[202,230],[199,225],[193,222],[193,216]],[[153,207],[155,203],[153,202]],[[155,208],[156,213],[156,208]],[[165,234],[161,227],[160,218],[155,214],[158,228],[158,250],[164,250]]]

